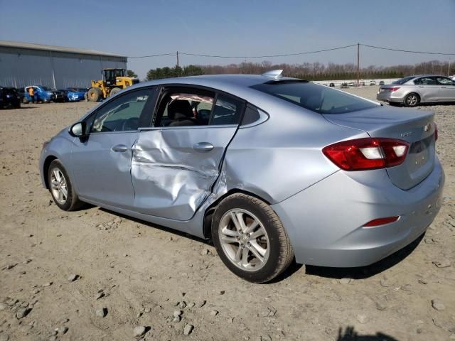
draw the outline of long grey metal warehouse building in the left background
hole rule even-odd
[[[127,68],[127,57],[79,48],[0,40],[0,86],[90,87],[104,68]]]

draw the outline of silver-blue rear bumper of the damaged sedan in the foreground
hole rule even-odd
[[[444,186],[444,171],[437,159],[432,173],[410,190],[393,185],[384,170],[367,172],[368,176],[338,171],[272,205],[287,229],[298,263],[373,264],[410,244],[433,222]],[[392,216],[400,219],[363,227],[371,220]]]

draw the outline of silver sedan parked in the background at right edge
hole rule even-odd
[[[390,104],[405,104],[406,107],[420,103],[455,102],[455,82],[445,76],[405,77],[381,86],[376,98]]]

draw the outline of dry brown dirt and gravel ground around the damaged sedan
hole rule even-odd
[[[350,91],[374,99],[377,87]],[[444,205],[422,239],[372,266],[294,265],[262,285],[230,273],[203,240],[50,202],[41,145],[90,107],[0,111],[1,341],[136,340],[137,326],[145,340],[455,339],[455,105],[420,108],[436,113],[446,172]]]

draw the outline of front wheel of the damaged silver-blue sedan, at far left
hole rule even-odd
[[[57,159],[50,163],[48,170],[48,184],[50,195],[55,205],[64,211],[74,211],[82,206],[77,197],[73,184],[62,163]]]

